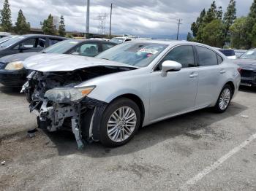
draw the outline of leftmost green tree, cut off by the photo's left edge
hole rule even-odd
[[[4,1],[4,7],[1,10],[1,30],[6,32],[12,31],[12,15],[8,0]]]

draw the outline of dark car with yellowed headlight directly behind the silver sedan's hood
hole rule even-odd
[[[73,54],[94,57],[99,52],[108,50],[116,43],[102,40],[68,39],[54,44],[41,52],[26,52],[7,55],[0,58],[0,83],[9,87],[20,87],[26,82],[28,71],[23,68],[23,61],[32,55],[43,53]]]

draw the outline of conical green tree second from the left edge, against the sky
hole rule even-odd
[[[21,9],[18,12],[14,30],[16,34],[27,34],[30,31],[30,24],[26,22],[26,17]]]

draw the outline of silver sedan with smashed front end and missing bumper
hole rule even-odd
[[[69,126],[80,148],[120,146],[142,126],[197,109],[225,112],[241,80],[225,55],[194,42],[134,41],[97,58],[45,54],[23,64],[39,128]]]

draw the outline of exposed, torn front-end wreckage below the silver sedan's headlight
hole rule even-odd
[[[32,101],[30,110],[37,115],[38,127],[50,132],[71,124],[78,148],[81,149],[83,141],[99,141],[100,122],[107,105],[87,97],[70,104],[56,104],[45,99]]]

